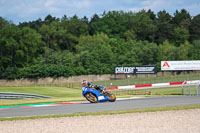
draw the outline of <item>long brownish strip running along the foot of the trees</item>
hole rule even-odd
[[[89,82],[105,81],[105,80],[117,80],[126,78],[144,78],[144,77],[161,77],[161,76],[175,76],[186,74],[200,74],[200,71],[184,71],[184,72],[158,72],[157,74],[138,74],[138,75],[81,75],[72,76],[68,78],[40,78],[40,79],[15,79],[15,80],[0,80],[0,86],[37,86],[37,85],[61,85],[65,84],[68,87],[73,87],[74,83],[80,83],[82,80]]]

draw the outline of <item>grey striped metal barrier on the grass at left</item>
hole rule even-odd
[[[38,98],[51,98],[51,97],[35,95],[35,94],[25,94],[25,93],[0,92],[0,100],[33,99],[33,98],[38,99]]]

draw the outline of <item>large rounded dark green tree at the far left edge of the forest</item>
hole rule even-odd
[[[7,25],[0,30],[0,78],[17,78],[18,68],[30,64],[43,51],[41,36],[34,30]]]

